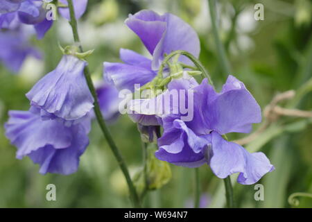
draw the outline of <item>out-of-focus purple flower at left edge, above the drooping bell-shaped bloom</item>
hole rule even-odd
[[[28,42],[23,30],[0,31],[0,62],[17,73],[28,56],[40,59],[41,53]]]

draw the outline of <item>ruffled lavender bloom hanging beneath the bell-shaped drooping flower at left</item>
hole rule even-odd
[[[10,111],[5,125],[6,137],[17,146],[16,157],[26,155],[40,164],[40,173],[68,175],[78,169],[79,158],[89,144],[90,120],[64,126],[60,121],[42,121],[40,110]]]

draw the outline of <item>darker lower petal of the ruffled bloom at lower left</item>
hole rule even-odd
[[[29,155],[34,163],[40,164],[40,173],[68,175],[77,171],[80,155],[85,152],[89,139],[80,125],[72,126],[70,130],[73,138],[67,148],[55,149],[53,146],[45,146]]]

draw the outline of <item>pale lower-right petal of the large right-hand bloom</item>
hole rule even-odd
[[[239,144],[227,142],[218,133],[211,133],[211,170],[218,178],[240,173],[238,182],[251,185],[261,179],[274,167],[263,153],[248,153]]]

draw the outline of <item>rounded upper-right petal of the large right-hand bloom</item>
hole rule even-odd
[[[261,122],[261,108],[245,85],[229,76],[223,91],[207,104],[206,118],[220,134],[249,133],[252,123]]]

